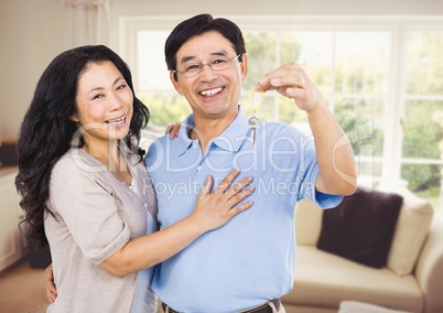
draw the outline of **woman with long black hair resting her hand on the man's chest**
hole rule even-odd
[[[15,184],[29,238],[51,248],[57,299],[48,312],[153,312],[151,268],[251,206],[238,204],[250,179],[230,186],[234,171],[210,193],[208,177],[194,213],[156,231],[138,145],[148,119],[128,66],[106,46],[66,51],[40,78]]]

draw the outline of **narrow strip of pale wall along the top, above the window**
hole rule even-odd
[[[443,14],[442,0],[112,0],[116,14]]]

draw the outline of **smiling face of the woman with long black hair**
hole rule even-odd
[[[132,118],[133,94],[112,62],[89,63],[78,78],[77,114],[86,144],[125,138]]]

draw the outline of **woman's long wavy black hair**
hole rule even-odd
[[[77,126],[71,117],[77,114],[78,79],[91,63],[112,62],[133,93],[133,116],[125,143],[139,153],[141,129],[149,121],[148,108],[136,97],[128,65],[104,45],[79,46],[56,56],[43,72],[21,125],[18,152],[19,174],[15,186],[25,213],[25,235],[36,248],[47,245],[43,220],[53,215],[46,202],[54,164],[72,147]],[[84,140],[77,140],[78,148]]]

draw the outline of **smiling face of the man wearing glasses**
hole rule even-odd
[[[176,54],[177,71],[183,73],[190,65],[208,64],[219,57],[236,56],[231,43],[218,32],[208,32],[191,37]],[[216,72],[203,66],[194,77],[179,74],[179,80],[171,80],[175,89],[190,102],[196,122],[204,119],[231,120],[238,112],[241,82],[247,73],[246,55],[240,63],[238,58],[230,62],[226,69]]]

